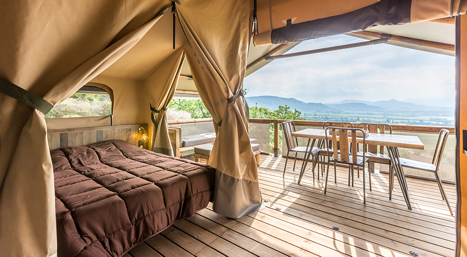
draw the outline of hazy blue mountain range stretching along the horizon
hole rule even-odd
[[[249,106],[257,104],[260,107],[265,107],[269,110],[276,110],[279,105],[290,106],[291,110],[297,109],[301,112],[312,111],[352,111],[352,112],[371,112],[371,113],[386,113],[393,111],[407,111],[407,112],[453,112],[450,107],[426,106],[416,105],[407,102],[401,102],[394,99],[388,101],[361,101],[346,99],[334,103],[305,103],[295,98],[284,98],[278,96],[251,96],[245,97]]]

